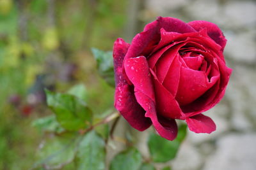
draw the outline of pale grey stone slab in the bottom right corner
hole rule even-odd
[[[217,143],[217,150],[206,161],[204,170],[254,170],[255,134],[229,134]]]

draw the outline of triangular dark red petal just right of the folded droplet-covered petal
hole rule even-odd
[[[175,100],[172,94],[166,90],[163,85],[157,80],[156,74],[150,69],[154,79],[154,87],[156,94],[157,113],[168,118],[183,119],[184,114],[180,110],[179,103]]]

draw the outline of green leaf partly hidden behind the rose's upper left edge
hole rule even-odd
[[[97,61],[97,67],[100,76],[102,76],[102,78],[104,78],[104,80],[106,80],[109,85],[115,87],[112,52],[104,52],[97,48],[92,48],[92,53]]]

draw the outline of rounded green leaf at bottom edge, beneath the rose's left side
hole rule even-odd
[[[136,148],[129,148],[114,157],[110,164],[110,170],[138,170],[140,166],[140,152]]]

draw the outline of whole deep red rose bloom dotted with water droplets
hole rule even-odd
[[[163,138],[177,136],[175,119],[190,131],[211,133],[216,125],[202,115],[225,93],[232,69],[225,65],[226,39],[217,25],[186,24],[159,17],[131,45],[121,38],[113,49],[115,108],[139,131],[151,124]]]

